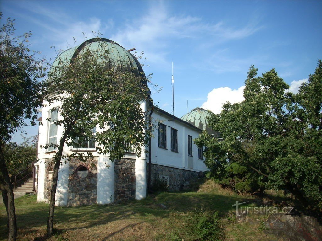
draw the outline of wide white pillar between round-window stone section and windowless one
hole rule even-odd
[[[108,204],[113,201],[114,163],[109,160],[109,156],[99,156],[97,167],[97,203]]]

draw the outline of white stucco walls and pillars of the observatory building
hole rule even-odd
[[[46,104],[46,103],[45,103]],[[39,127],[39,146],[47,143],[48,133],[48,111],[53,107],[58,106],[59,103],[53,103],[51,106],[43,107],[42,121],[43,125]],[[142,111],[148,111],[148,103],[142,102]],[[149,114],[149,113],[147,113]],[[192,139],[197,138],[201,131],[195,129],[181,121],[175,120],[174,129],[178,132],[178,152],[171,151],[171,127],[173,125],[172,118],[168,115],[154,111],[152,114],[153,122],[158,125],[158,122],[165,124],[167,130],[167,149],[158,147],[158,129],[154,132],[154,138],[151,139],[152,151],[151,162],[152,164],[165,165],[175,168],[181,168],[190,171],[205,171],[207,170],[203,160],[198,159],[198,147],[192,143],[193,156],[188,156],[188,135],[192,136]],[[169,121],[170,120],[170,121]],[[62,134],[63,127],[58,126],[57,130],[57,142]],[[99,129],[97,129],[99,131]],[[147,161],[148,158],[144,153],[144,146],[142,146],[142,152],[139,157],[136,157],[134,153],[126,153],[124,158],[136,159],[135,162],[135,198],[142,199],[146,197],[147,190]],[[45,152],[45,149],[38,147],[39,172],[38,172],[38,201],[47,201],[44,198],[44,183],[45,183],[45,160],[52,158],[53,152]],[[64,153],[71,154],[71,150],[65,146]],[[109,156],[99,156],[96,152],[93,152],[93,156],[98,157],[98,183],[97,183],[97,203],[108,204],[114,201],[114,163],[109,160]],[[109,166],[109,168],[107,167]],[[56,206],[67,205],[68,198],[68,178],[69,178],[69,163],[60,166],[58,175],[58,184],[56,192]]]

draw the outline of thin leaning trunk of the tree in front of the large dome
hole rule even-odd
[[[47,236],[48,237],[52,236],[58,171],[59,171],[59,166],[60,166],[61,160],[62,160],[62,150],[63,150],[64,144],[66,141],[67,131],[69,132],[69,130],[65,129],[65,132],[63,133],[63,136],[60,140],[59,147],[58,147],[58,153],[55,156],[55,165],[54,165],[54,169],[52,172],[52,188],[50,191],[49,214],[48,214],[48,219],[47,219]]]

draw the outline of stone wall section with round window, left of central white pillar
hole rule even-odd
[[[81,165],[87,167],[88,175],[79,177],[77,168]],[[68,201],[67,206],[96,204],[97,200],[97,158],[87,163],[71,159],[69,163]]]

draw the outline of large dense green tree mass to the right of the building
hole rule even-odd
[[[205,163],[217,180],[244,191],[254,183],[288,189],[305,207],[320,202],[321,67],[319,61],[298,94],[287,92],[289,86],[274,69],[257,76],[257,69],[250,68],[245,100],[224,104],[220,114],[208,119],[223,141],[205,132],[196,140],[206,146]]]

